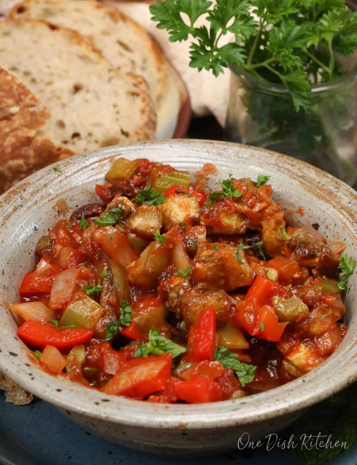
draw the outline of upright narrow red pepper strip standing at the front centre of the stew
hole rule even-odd
[[[188,332],[189,349],[187,361],[201,362],[213,360],[216,349],[216,312],[212,306],[207,307],[198,315],[198,321],[193,323]]]

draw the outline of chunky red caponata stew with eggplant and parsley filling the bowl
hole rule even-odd
[[[268,176],[117,159],[101,202],[36,246],[20,286],[20,338],[43,369],[150,402],[214,402],[320,365],[347,327],[356,265],[319,225],[287,226]],[[339,280],[337,280],[339,278]]]

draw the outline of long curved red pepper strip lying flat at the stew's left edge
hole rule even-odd
[[[72,349],[75,345],[86,344],[93,336],[93,331],[83,328],[58,329],[52,323],[27,320],[17,330],[19,337],[26,344],[43,349],[53,345],[59,350]]]

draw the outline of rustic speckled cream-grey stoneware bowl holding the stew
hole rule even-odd
[[[296,159],[250,146],[196,140],[113,146],[75,156],[58,165],[62,173],[49,166],[0,197],[0,371],[87,431],[126,446],[175,455],[223,452],[237,447],[243,433],[253,440],[278,432],[306,407],[357,378],[357,273],[345,296],[349,330],[343,343],[316,370],[268,392],[212,404],[164,405],[107,396],[43,372],[17,338],[7,303],[18,300],[21,278],[34,265],[40,236],[57,219],[68,218],[73,209],[96,199],[95,183],[103,183],[119,156],[145,157],[190,172],[211,162],[218,168],[212,187],[230,173],[252,179],[270,175],[273,197],[283,203],[292,223],[318,223],[329,241],[346,242],[346,252],[357,257],[355,191]],[[300,206],[305,208],[303,218],[296,213]]]

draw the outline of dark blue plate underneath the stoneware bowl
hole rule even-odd
[[[291,436],[288,428],[279,439]],[[203,459],[185,458],[185,465],[239,463],[245,465],[301,465],[291,450],[266,447],[234,451]],[[356,465],[357,445],[344,452],[330,465]],[[181,465],[182,458],[137,452],[112,444],[86,432],[63,417],[53,405],[35,399],[15,407],[0,393],[0,464],[1,465]]]

